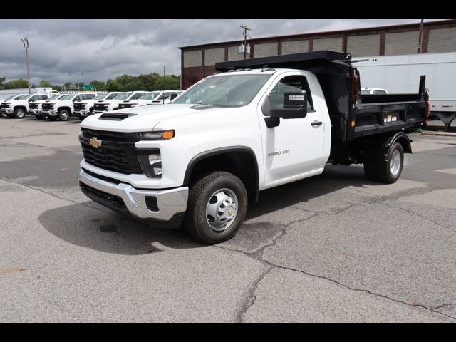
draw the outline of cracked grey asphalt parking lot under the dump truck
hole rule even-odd
[[[78,189],[79,122],[0,119],[0,321],[456,320],[456,137],[400,180],[360,166],[260,193],[217,246]]]

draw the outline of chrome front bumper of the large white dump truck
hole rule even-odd
[[[78,181],[81,191],[94,202],[148,219],[156,227],[179,227],[187,209],[188,187],[140,190],[126,183],[102,180],[83,169],[78,172]]]

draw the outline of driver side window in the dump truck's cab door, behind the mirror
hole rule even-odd
[[[307,93],[308,111],[314,111],[314,103],[312,102],[309,84],[307,83],[306,76],[302,75],[285,76],[272,88],[271,93],[269,93],[266,99],[266,101],[269,100],[271,109],[284,108],[284,93],[286,90],[305,90]],[[269,113],[264,113],[264,115],[268,116]]]

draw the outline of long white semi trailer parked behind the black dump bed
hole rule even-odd
[[[356,59],[368,59],[354,64],[363,75],[363,88],[385,88],[388,93],[415,93],[419,76],[425,75],[430,114],[445,123],[445,130],[450,129],[452,120],[456,118],[456,52]]]

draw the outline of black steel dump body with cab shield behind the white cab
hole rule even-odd
[[[314,73],[331,118],[330,161],[346,162],[347,158],[351,160],[351,151],[356,150],[353,147],[369,137],[408,132],[427,119],[425,76],[421,76],[416,94],[361,95],[358,69],[351,62],[350,53],[314,51],[216,63],[215,68],[229,71],[267,65]]]

